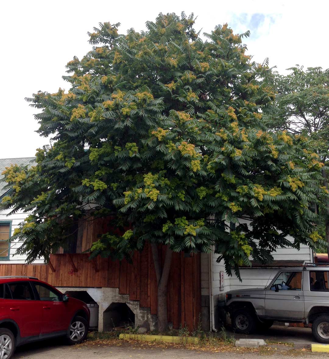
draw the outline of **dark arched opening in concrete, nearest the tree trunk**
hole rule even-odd
[[[135,314],[126,303],[111,303],[103,313],[104,331],[134,327]]]

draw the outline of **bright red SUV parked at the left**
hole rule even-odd
[[[16,346],[66,336],[69,344],[85,339],[90,312],[33,277],[0,276],[0,358],[10,359]]]

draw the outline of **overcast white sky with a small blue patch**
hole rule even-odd
[[[3,1],[0,158],[33,156],[49,142],[34,132],[36,110],[24,97],[69,89],[61,76],[74,55],[91,48],[87,31],[105,21],[120,22],[121,33],[140,31],[158,13],[182,10],[198,15],[202,32],[226,22],[235,33],[250,30],[249,54],[258,62],[269,57],[280,72],[295,64],[329,67],[328,1]]]

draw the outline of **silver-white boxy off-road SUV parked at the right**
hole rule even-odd
[[[227,292],[225,310],[237,333],[268,329],[274,321],[311,323],[315,339],[329,344],[329,266],[280,269],[265,288]]]

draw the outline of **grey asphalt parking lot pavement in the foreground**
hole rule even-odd
[[[226,329],[227,336],[232,336],[233,332]],[[262,334],[252,334],[249,336],[237,335],[236,339],[240,338],[261,338],[269,342],[289,342],[294,343],[297,349],[306,347],[314,342],[311,329],[309,328],[296,328],[296,327],[284,327],[273,326],[267,332]],[[275,344],[272,345],[275,347]],[[244,359],[254,359],[255,356],[263,354],[259,353],[241,353]],[[267,358],[281,359],[288,358],[288,353],[278,352],[273,355],[266,355]],[[126,342],[122,342],[121,345],[109,346],[106,344],[89,344],[88,342],[83,345],[67,346],[63,340],[53,339],[42,342],[36,342],[17,348],[13,359],[96,359],[96,358],[111,358],[111,359],[131,359],[131,358],[143,358],[143,359],[236,359],[240,356],[238,353],[232,352],[218,352],[208,353],[207,351],[195,351],[177,348],[157,348],[148,347],[147,345],[131,345]],[[296,352],[294,355],[297,358],[326,358],[328,354],[316,354],[309,351]]]

